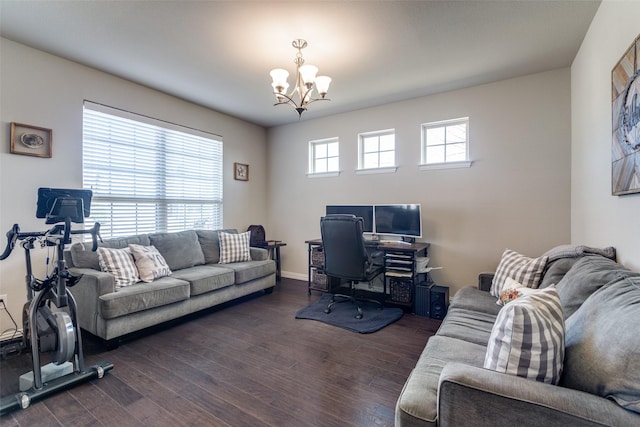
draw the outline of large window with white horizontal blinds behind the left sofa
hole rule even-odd
[[[103,237],[222,228],[222,139],[85,102],[83,186]]]

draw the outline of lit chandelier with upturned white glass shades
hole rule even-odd
[[[329,84],[331,83],[331,77],[317,76],[318,67],[310,64],[305,64],[302,58],[302,49],[307,47],[307,41],[302,39],[294,40],[291,45],[298,49],[293,62],[296,64],[296,82],[293,90],[287,93],[289,89],[289,83],[287,78],[289,72],[282,68],[275,68],[269,73],[273,79],[273,94],[276,96],[275,105],[289,104],[298,112],[298,117],[302,117],[302,113],[307,110],[307,105],[315,101],[329,101],[327,92],[329,91]],[[318,91],[318,98],[313,97],[313,90]]]

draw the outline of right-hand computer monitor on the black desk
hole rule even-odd
[[[375,205],[374,218],[376,234],[422,237],[420,204]]]

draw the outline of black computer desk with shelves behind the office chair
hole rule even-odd
[[[309,251],[308,291],[328,292],[339,286],[335,278],[324,274],[324,255],[322,254],[322,239],[305,240]],[[422,282],[431,282],[429,273],[417,270],[417,258],[428,255],[429,243],[416,242],[411,244],[365,241],[365,247],[370,251],[384,252],[384,293],[388,302],[413,308],[415,286]],[[389,293],[387,295],[387,290]]]

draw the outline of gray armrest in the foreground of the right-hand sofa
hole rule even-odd
[[[640,416],[615,402],[551,384],[448,363],[438,384],[438,425],[637,425]]]

